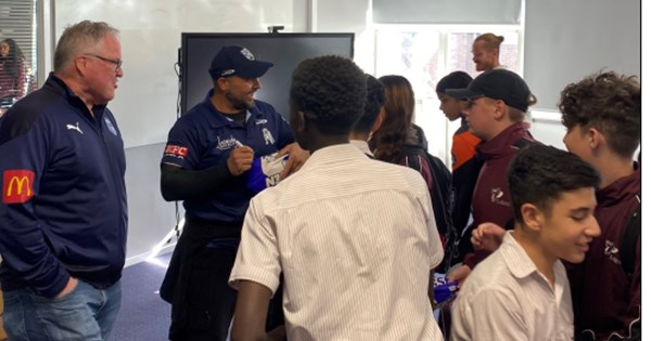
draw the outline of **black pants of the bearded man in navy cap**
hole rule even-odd
[[[169,339],[226,340],[237,299],[228,278],[238,253],[241,224],[186,221],[161,286],[161,297],[171,303]],[[267,330],[283,324],[281,281],[269,305]]]

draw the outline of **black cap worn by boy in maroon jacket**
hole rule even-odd
[[[507,69],[492,69],[473,79],[468,88],[448,89],[445,94],[458,100],[486,96],[526,112],[532,92],[518,74]]]

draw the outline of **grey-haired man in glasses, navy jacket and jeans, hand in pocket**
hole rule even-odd
[[[124,143],[107,104],[118,30],[68,26],[54,69],[0,121],[0,284],[10,340],[106,340],[127,240]]]

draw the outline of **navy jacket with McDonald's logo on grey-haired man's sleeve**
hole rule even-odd
[[[77,277],[122,276],[127,239],[125,152],[106,106],[86,104],[54,75],[0,122],[0,281],[56,296]]]

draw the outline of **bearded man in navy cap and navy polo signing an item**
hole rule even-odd
[[[255,100],[259,77],[273,66],[242,47],[225,47],[208,73],[214,89],[169,131],[161,162],[161,192],[183,200],[186,224],[161,287],[171,303],[170,340],[225,340],[235,291],[228,276],[240,244],[250,199],[254,156],[290,154],[283,176],[307,152],[289,123]]]

